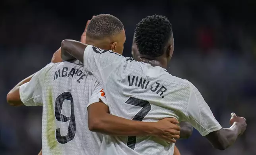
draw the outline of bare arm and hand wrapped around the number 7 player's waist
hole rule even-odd
[[[156,136],[173,143],[179,138],[180,127],[175,125],[178,121],[174,118],[155,123],[132,121],[109,114],[109,107],[103,102],[91,104],[87,110],[89,130],[93,132],[112,136]]]

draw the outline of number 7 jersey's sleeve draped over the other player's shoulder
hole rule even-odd
[[[125,57],[111,50],[103,50],[87,45],[83,55],[83,64],[86,71],[95,76],[100,83],[105,83],[111,72],[125,62]]]

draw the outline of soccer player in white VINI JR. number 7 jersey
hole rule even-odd
[[[124,30],[119,30],[116,36],[125,40]],[[103,50],[104,46],[97,48],[74,40],[62,41],[62,52],[83,62],[84,68],[103,84],[109,111],[113,115],[146,122],[165,117],[188,121],[213,147],[221,150],[231,146],[243,134],[246,119],[231,113],[231,127],[222,128],[196,87],[165,69],[174,50],[171,23],[166,17],[153,15],[142,19],[135,30],[135,42],[142,57],[140,62],[123,57],[122,52],[115,53],[119,52],[115,50],[116,46]],[[147,60],[157,61],[159,65],[152,66]],[[88,111],[97,112],[97,108],[102,112],[101,107],[104,109],[99,104],[90,106]],[[104,136],[100,154],[171,155],[173,149],[173,144],[152,136]]]

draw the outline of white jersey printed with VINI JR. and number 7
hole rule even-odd
[[[196,87],[159,66],[91,45],[84,51],[83,63],[102,83],[113,115],[145,122],[175,117],[190,122],[202,136],[221,129]],[[173,150],[173,144],[153,136],[105,135],[100,155],[171,155]]]

